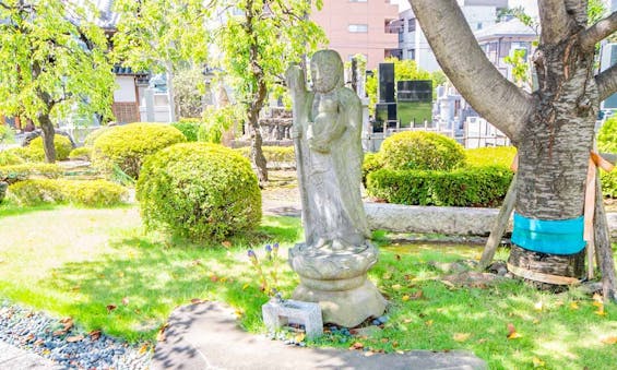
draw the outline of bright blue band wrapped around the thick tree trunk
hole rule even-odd
[[[534,219],[514,213],[512,242],[533,252],[577,254],[586,246],[583,216],[570,219]]]

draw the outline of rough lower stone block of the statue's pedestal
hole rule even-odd
[[[328,281],[322,281],[328,285]],[[301,282],[293,295],[294,299],[318,302],[323,322],[353,327],[370,317],[380,317],[385,310],[385,299],[368,279],[348,290],[322,290],[307,287]]]

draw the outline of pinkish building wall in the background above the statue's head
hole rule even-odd
[[[377,68],[389,50],[398,49],[398,32],[387,33],[387,25],[398,19],[399,7],[390,0],[324,0],[321,11],[311,14],[330,39],[330,49],[339,51],[343,61],[365,55],[368,69]]]

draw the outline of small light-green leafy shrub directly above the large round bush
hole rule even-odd
[[[203,112],[203,124],[198,132],[198,141],[219,144],[223,133],[235,124],[244,122],[245,112],[241,107],[229,105],[223,108],[209,106]]]

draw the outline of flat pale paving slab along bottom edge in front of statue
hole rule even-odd
[[[169,318],[156,345],[154,369],[486,369],[466,351],[414,350],[365,356],[361,351],[286,346],[238,327],[232,309],[216,302],[185,306]]]

